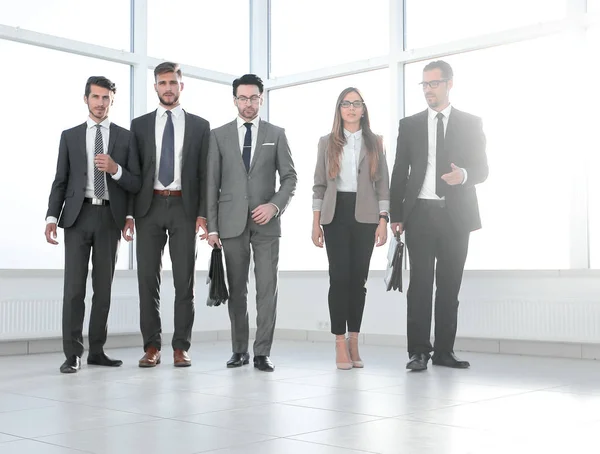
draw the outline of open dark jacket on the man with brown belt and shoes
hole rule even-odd
[[[186,215],[195,220],[206,217],[206,158],[210,125],[204,118],[185,112],[181,191]],[[156,110],[133,119],[130,148],[139,156],[142,189],[132,199],[129,214],[141,218],[148,214],[156,177]]]

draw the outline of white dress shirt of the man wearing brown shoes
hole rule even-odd
[[[163,106],[158,106],[156,109],[155,123],[155,139],[156,139],[156,172],[154,174],[154,189],[163,191],[169,189],[171,191],[181,190],[181,166],[183,162],[183,136],[185,134],[185,112],[181,106],[171,109],[171,119],[173,120],[173,129],[175,131],[175,165],[173,176],[174,179],[169,186],[163,186],[158,181],[158,171],[160,170],[160,154],[162,152],[162,136],[165,132],[167,124],[167,109]]]

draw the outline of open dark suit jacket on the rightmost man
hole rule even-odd
[[[407,223],[410,224],[410,214],[427,170],[427,128],[427,110],[400,120],[390,185],[390,218],[391,222],[403,222],[405,228]],[[450,162],[467,171],[464,185],[448,186],[446,190],[446,206],[452,221],[461,231],[480,229],[475,185],[485,181],[489,171],[481,118],[453,107],[448,117],[444,144]]]

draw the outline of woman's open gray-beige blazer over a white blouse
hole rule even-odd
[[[378,137],[381,140],[381,137]],[[335,213],[337,185],[335,178],[329,178],[329,162],[327,160],[327,144],[329,134],[319,140],[317,165],[315,167],[315,184],[313,186],[313,201],[322,200],[321,224],[331,223]],[[378,224],[379,212],[389,211],[390,186],[385,150],[379,152],[379,179],[371,181],[369,160],[366,158],[365,141],[358,158],[358,182],[356,190],[356,209],[354,216],[358,222]],[[380,203],[383,202],[383,203]]]

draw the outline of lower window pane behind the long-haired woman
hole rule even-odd
[[[282,270],[327,269],[325,251],[317,249],[311,241],[313,175],[319,138],[331,131],[337,97],[344,88],[350,86],[361,90],[369,108],[371,128],[375,133],[384,135],[389,151],[388,70],[339,77],[270,93],[270,119],[272,123],[285,128],[298,172],[296,195],[282,217],[279,255]],[[392,154],[388,152],[390,166],[393,163]],[[378,248],[371,260],[372,269],[385,268],[386,253],[386,247]]]

